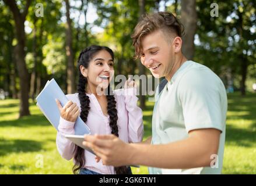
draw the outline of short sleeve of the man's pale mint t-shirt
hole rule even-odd
[[[201,128],[224,130],[220,84],[210,70],[191,70],[181,78],[177,93],[187,132]]]

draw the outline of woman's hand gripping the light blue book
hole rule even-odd
[[[64,120],[75,122],[80,114],[79,108],[78,106],[76,106],[76,103],[68,101],[66,105],[64,105],[64,107],[62,108],[61,103],[58,101],[58,99],[56,99],[55,101],[59,108],[59,112],[61,113],[61,117]]]

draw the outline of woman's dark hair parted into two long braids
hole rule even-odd
[[[113,51],[108,47],[102,47],[98,45],[92,45],[83,49],[80,52],[78,58],[78,71],[79,71],[79,80],[78,80],[78,96],[80,101],[80,117],[86,123],[87,116],[90,110],[90,99],[89,96],[86,95],[86,86],[87,86],[87,78],[84,77],[80,71],[80,66],[84,66],[86,69],[89,66],[90,60],[96,55],[98,52],[105,50],[110,53],[112,59],[114,59]],[[108,92],[111,91],[110,85],[108,85]],[[115,98],[113,94],[107,95],[107,113],[110,116],[110,127],[111,127],[111,134],[114,134],[118,137],[118,127],[117,127],[117,109]],[[75,159],[75,165],[73,166],[73,173],[78,174],[80,169],[85,165],[85,150],[80,148],[80,146],[75,146],[75,155],[73,157]],[[127,174],[128,169],[126,166],[115,167],[115,172],[117,174]]]

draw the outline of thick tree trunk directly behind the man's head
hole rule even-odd
[[[197,30],[197,11],[195,9],[195,0],[181,0],[181,23],[185,28],[182,51],[188,60],[192,60],[195,52],[195,31]]]

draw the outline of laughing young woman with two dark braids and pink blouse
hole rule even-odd
[[[142,110],[136,106],[133,81],[125,89],[111,92],[114,53],[108,47],[93,45],[84,49],[78,59],[78,93],[68,94],[69,102],[61,110],[57,133],[57,149],[62,158],[73,158],[74,174],[131,174],[127,166],[104,166],[101,160],[65,138],[74,134],[73,126],[80,115],[92,134],[114,134],[124,142],[141,142]],[[108,91],[108,94],[103,94]],[[111,94],[112,93],[112,94]]]

